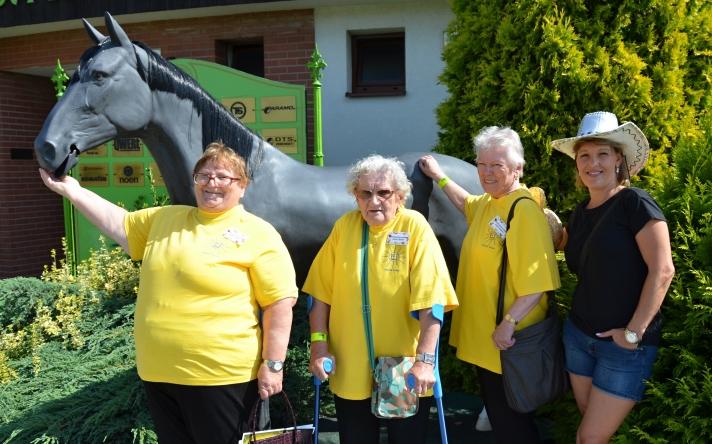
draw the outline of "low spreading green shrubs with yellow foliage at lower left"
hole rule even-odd
[[[135,368],[136,264],[120,249],[102,243],[77,265],[76,275],[55,260],[43,279],[0,280],[0,315],[6,321],[0,325],[6,330],[0,336],[0,442],[155,444]],[[70,297],[82,301],[75,306],[80,312],[71,325],[62,317],[67,313],[62,303]],[[42,316],[36,307],[45,307]],[[7,333],[10,324],[12,337]],[[45,333],[32,342],[36,325],[52,326],[55,334]],[[294,310],[284,381],[300,424],[313,419],[308,333],[302,297]],[[68,341],[72,334],[81,341]],[[322,406],[323,414],[333,415],[328,390],[322,390]],[[273,424],[291,423],[279,400],[271,411]]]

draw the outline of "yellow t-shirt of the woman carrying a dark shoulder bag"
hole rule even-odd
[[[460,253],[456,285],[460,308],[453,313],[450,345],[457,347],[457,357],[463,361],[500,374],[502,365],[492,333],[496,327],[502,239],[490,222],[499,217],[506,224],[512,202],[521,196],[531,197],[526,188],[500,199],[493,199],[489,194],[469,196],[464,208],[470,228]],[[507,233],[507,252],[504,313],[515,297],[561,286],[549,225],[535,202],[517,203]],[[517,330],[544,319],[547,307],[544,296],[520,320]]]

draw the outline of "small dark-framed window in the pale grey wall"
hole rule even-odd
[[[405,95],[405,33],[351,35],[348,97]]]

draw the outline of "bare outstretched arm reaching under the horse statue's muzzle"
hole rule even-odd
[[[129,244],[124,228],[124,217],[128,212],[125,209],[83,188],[73,177],[57,179],[41,168],[40,177],[47,188],[66,197],[89,222],[128,252]]]

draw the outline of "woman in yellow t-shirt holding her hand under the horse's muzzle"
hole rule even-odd
[[[281,237],[240,205],[244,159],[208,145],[193,170],[197,208],[127,212],[69,176],[40,175],[143,261],[136,366],[159,441],[237,442],[257,396],[282,390],[297,297]]]

